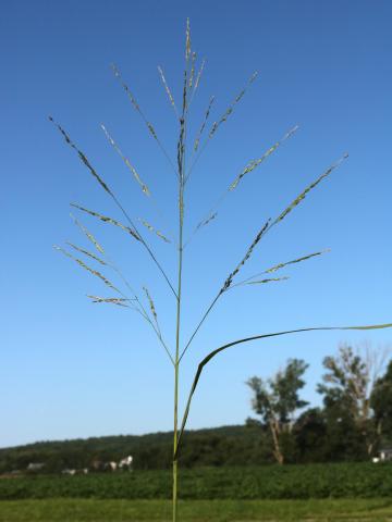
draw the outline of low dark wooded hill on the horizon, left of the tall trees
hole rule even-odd
[[[39,442],[0,449],[0,473],[26,471],[44,463],[41,472],[91,468],[93,462],[119,462],[132,455],[135,469],[167,469],[171,465],[173,432],[147,435],[115,435],[62,442]],[[269,438],[260,426],[221,426],[187,431],[181,464],[246,465],[271,462]]]

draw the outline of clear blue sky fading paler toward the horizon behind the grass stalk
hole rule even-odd
[[[181,403],[198,361],[221,344],[302,326],[391,322],[391,15],[387,0],[3,7],[0,446],[172,426],[172,369],[147,325],[130,310],[91,304],[85,295],[107,289],[51,248],[65,240],[88,246],[69,217],[70,201],[121,215],[47,116],[68,129],[133,217],[172,234],[175,178],[110,64],[119,65],[174,158],[176,122],[157,65],[180,100],[187,16],[193,49],[198,60],[207,58],[189,134],[211,95],[212,122],[255,70],[259,76],[193,173],[186,237],[250,159],[292,126],[301,128],[243,179],[185,250],[183,341],[266,219],[345,151],[350,158],[258,245],[243,275],[331,252],[285,270],[284,283],[236,288],[220,300],[183,360]],[[155,204],[108,145],[101,123]],[[81,219],[133,286],[148,286],[173,346],[175,302],[143,249],[121,231]],[[146,237],[174,279],[175,249],[147,231]],[[188,426],[242,423],[252,413],[244,382],[273,374],[290,357],[310,363],[304,396],[317,403],[326,355],[340,341],[377,347],[391,335],[315,333],[233,348],[203,375]]]

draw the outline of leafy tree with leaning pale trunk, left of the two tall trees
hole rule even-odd
[[[299,398],[305,386],[302,378],[308,364],[301,359],[290,359],[283,370],[268,381],[252,377],[246,384],[253,390],[252,408],[269,426],[273,440],[273,456],[280,464],[285,460],[284,446],[290,445],[295,413],[308,405]]]

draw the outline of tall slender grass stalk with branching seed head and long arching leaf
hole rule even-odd
[[[275,273],[280,271],[281,269],[285,268],[289,264],[292,263],[299,263],[306,260],[309,260],[316,256],[320,256],[322,252],[313,252],[308,254],[304,254],[302,257],[298,257],[294,259],[293,261],[289,262],[282,262],[279,263],[271,269],[267,269],[265,272],[261,274],[255,274],[252,277],[247,277],[244,279],[240,279],[241,272],[243,266],[249,261],[252,258],[255,249],[258,247],[258,244],[264,239],[264,237],[270,233],[272,228],[274,228],[277,225],[279,225],[283,220],[285,220],[289,214],[291,214],[298,204],[301,204],[304,199],[308,196],[310,191],[313,191],[316,187],[321,184],[327,177],[329,177],[332,172],[338,169],[341,163],[347,158],[347,154],[343,154],[341,159],[339,159],[336,162],[334,162],[331,166],[329,166],[319,177],[317,177],[314,182],[311,182],[307,187],[305,187],[304,190],[299,192],[297,197],[295,197],[289,204],[285,207],[280,213],[278,213],[277,217],[270,219],[266,221],[266,223],[261,224],[259,227],[259,232],[255,236],[255,238],[249,241],[248,248],[245,250],[245,253],[241,258],[240,262],[234,266],[234,269],[226,275],[226,277],[223,279],[223,284],[221,285],[220,288],[218,288],[215,298],[210,302],[210,304],[206,308],[205,313],[201,315],[200,320],[197,322],[197,325],[189,336],[188,340],[182,345],[181,344],[181,326],[182,326],[182,315],[183,315],[183,306],[182,306],[182,287],[183,287],[183,264],[184,264],[184,258],[183,258],[183,252],[184,252],[184,247],[187,245],[188,241],[185,240],[184,238],[184,219],[185,219],[185,189],[187,186],[187,183],[189,182],[191,176],[193,175],[195,171],[195,166],[197,165],[200,157],[203,156],[204,151],[206,148],[210,145],[212,139],[215,138],[216,134],[220,130],[222,125],[224,125],[231,114],[233,113],[234,110],[237,109],[237,104],[241,102],[243,97],[246,94],[246,90],[254,84],[254,82],[257,78],[257,73],[254,73],[250,75],[249,79],[247,80],[245,87],[240,90],[240,92],[233,98],[232,102],[229,104],[228,109],[221,114],[221,116],[218,116],[212,124],[209,124],[209,119],[211,115],[212,111],[212,105],[213,105],[213,100],[215,98],[211,97],[206,112],[203,117],[203,123],[196,134],[196,136],[193,137],[193,146],[188,147],[187,142],[189,141],[188,137],[188,121],[189,121],[189,115],[191,115],[191,107],[194,97],[197,94],[198,86],[200,84],[200,80],[203,78],[203,72],[205,67],[205,62],[203,61],[201,64],[197,67],[197,57],[196,53],[192,50],[192,42],[191,42],[191,29],[189,29],[189,22],[187,21],[186,24],[186,35],[185,35],[185,66],[184,66],[184,75],[182,79],[182,100],[181,103],[176,103],[174,100],[173,94],[168,85],[167,78],[164,76],[164,72],[161,67],[159,67],[159,75],[163,84],[164,91],[168,96],[169,102],[174,111],[175,117],[177,120],[177,125],[179,125],[179,138],[177,138],[177,146],[176,146],[176,153],[175,159],[171,157],[170,153],[166,150],[166,148],[162,145],[161,139],[159,138],[155,127],[152,124],[147,120],[144,111],[142,110],[135,95],[133,91],[130,89],[130,87],[126,85],[126,83],[123,80],[121,73],[117,66],[113,65],[113,73],[115,77],[119,79],[122,88],[124,89],[130,102],[132,103],[134,110],[137,112],[137,114],[140,116],[144,125],[146,126],[148,133],[152,137],[152,139],[156,141],[158,147],[161,149],[162,153],[167,158],[170,169],[173,171],[174,174],[174,179],[177,185],[177,199],[176,199],[176,204],[177,204],[177,236],[175,238],[174,245],[176,246],[177,249],[177,261],[176,261],[176,282],[173,283],[171,281],[171,277],[168,275],[167,271],[162,266],[161,262],[159,261],[158,257],[156,256],[152,247],[149,244],[149,240],[146,239],[144,235],[144,228],[148,231],[149,233],[156,234],[160,239],[169,243],[170,239],[162,234],[159,229],[155,228],[151,224],[146,222],[145,220],[142,220],[137,222],[136,219],[131,217],[128,214],[127,210],[121,202],[120,198],[112,191],[110,188],[109,184],[103,181],[102,176],[98,173],[95,166],[90,163],[90,161],[87,159],[84,152],[74,144],[74,141],[71,139],[70,135],[64,130],[64,128],[54,122],[52,117],[50,120],[52,123],[57,126],[58,130],[61,133],[62,137],[65,139],[66,144],[76,152],[78,159],[82,161],[82,163],[87,167],[89,173],[93,175],[93,177],[96,179],[96,182],[101,186],[101,188],[107,192],[107,195],[112,199],[114,204],[118,207],[120,212],[122,213],[125,224],[120,223],[118,220],[114,220],[112,217],[102,215],[99,212],[96,212],[94,210],[89,210],[83,206],[72,203],[73,208],[78,210],[79,212],[94,216],[100,222],[103,222],[106,224],[113,225],[115,227],[120,227],[125,234],[131,236],[131,238],[135,243],[135,248],[137,246],[140,246],[142,248],[145,249],[146,254],[152,260],[155,265],[157,266],[158,271],[160,272],[161,276],[167,283],[169,293],[172,294],[176,301],[176,312],[175,312],[175,343],[174,343],[174,349],[171,349],[166,340],[163,340],[163,336],[161,334],[160,325],[158,323],[158,316],[156,313],[156,307],[151,297],[151,293],[149,289],[144,288],[144,294],[145,297],[147,298],[147,303],[148,306],[145,306],[143,302],[143,298],[140,297],[140,293],[133,289],[131,284],[125,279],[125,277],[122,275],[120,270],[111,262],[108,260],[106,257],[106,252],[103,247],[97,241],[95,236],[90,232],[87,231],[87,228],[79,224],[79,221],[77,221],[77,224],[79,225],[81,231],[85,234],[87,239],[91,243],[91,245],[95,247],[95,249],[98,251],[98,253],[93,253],[86,248],[78,247],[74,244],[69,244],[69,246],[72,248],[72,250],[77,252],[77,256],[82,253],[84,257],[88,258],[88,261],[93,261],[99,264],[100,270],[96,270],[94,268],[90,268],[87,262],[85,262],[83,259],[79,257],[76,257],[76,254],[71,253],[69,250],[65,250],[62,247],[56,247],[58,248],[61,252],[63,252],[66,257],[70,259],[74,260],[81,268],[89,272],[91,275],[95,275],[98,277],[107,288],[109,288],[112,293],[114,293],[114,296],[108,296],[108,297],[101,297],[101,296],[89,296],[93,302],[99,302],[99,303],[111,303],[118,307],[126,307],[130,308],[131,310],[137,312],[143,320],[145,320],[150,327],[154,330],[155,334],[157,335],[158,341],[162,345],[163,349],[166,350],[166,353],[168,356],[168,360],[170,364],[173,366],[173,387],[174,387],[174,397],[173,397],[173,475],[172,475],[172,481],[173,481],[173,495],[172,495],[172,508],[173,508],[173,522],[177,521],[177,488],[179,488],[179,483],[177,483],[177,476],[179,476],[179,469],[177,469],[177,456],[181,450],[181,440],[182,436],[186,426],[186,421],[189,412],[189,407],[192,403],[192,399],[194,396],[194,393],[196,390],[196,387],[199,382],[199,377],[201,375],[203,370],[205,369],[206,364],[211,361],[212,358],[215,358],[218,353],[226,350],[228,348],[231,348],[236,345],[241,345],[244,343],[249,343],[253,340],[257,339],[264,339],[268,337],[274,337],[274,336],[281,336],[281,335],[289,335],[289,334],[294,334],[294,333],[303,333],[303,332],[311,332],[311,331],[329,331],[329,330],[373,330],[373,328],[385,328],[390,327],[391,324],[377,324],[377,325],[368,325],[368,326],[343,326],[343,327],[338,327],[338,326],[318,326],[318,327],[302,327],[297,330],[287,330],[287,331],[282,331],[282,332],[274,332],[274,333],[266,333],[266,334],[259,334],[255,335],[252,337],[247,338],[241,338],[233,340],[231,343],[228,343],[213,351],[211,351],[207,357],[205,357],[197,369],[197,372],[195,374],[193,384],[191,386],[191,391],[188,396],[188,400],[186,403],[185,411],[183,413],[182,419],[180,419],[179,415],[179,378],[180,378],[180,368],[181,363],[183,362],[183,358],[187,350],[191,348],[191,345],[199,332],[200,327],[207,320],[208,315],[210,314],[211,310],[216,307],[217,302],[229,291],[231,290],[234,286],[238,285],[261,285],[261,284],[267,284],[267,283],[275,283],[275,282],[282,282],[286,278],[286,276],[281,276],[281,277],[269,277],[267,276],[270,273]],[[209,130],[208,130],[208,125],[210,125]],[[136,167],[131,163],[131,161],[123,154],[121,149],[118,147],[117,142],[112,138],[112,136],[109,134],[107,128],[103,126],[102,130],[109,140],[110,145],[115,149],[117,153],[121,157],[127,169],[130,170],[133,178],[135,182],[138,184],[140,191],[144,196],[146,197],[151,197],[150,190],[145,184],[145,182],[142,179],[140,175],[136,171]],[[233,182],[229,185],[228,189],[224,191],[224,194],[221,195],[221,197],[218,198],[216,206],[208,212],[208,214],[199,222],[199,224],[195,227],[193,235],[197,234],[198,231],[207,226],[212,220],[217,219],[217,209],[221,204],[222,200],[228,196],[228,194],[235,191],[237,186],[243,183],[243,179],[245,176],[250,174],[253,171],[258,169],[269,156],[274,153],[281,145],[283,145],[284,141],[286,141],[289,138],[291,138],[294,133],[297,130],[297,126],[294,126],[291,128],[279,141],[277,141],[274,145],[272,145],[262,156],[260,156],[257,160],[252,160],[248,162],[245,167],[237,174],[237,176],[233,179]],[[140,224],[140,226],[139,226]],[[191,236],[191,239],[193,237]],[[126,287],[125,289],[118,288],[109,278],[109,276],[103,275],[101,273],[101,266],[103,269],[109,269],[109,270],[114,270],[118,275],[120,275],[122,283]]]

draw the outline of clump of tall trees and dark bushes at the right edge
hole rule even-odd
[[[274,460],[366,460],[392,440],[392,361],[387,350],[343,344],[322,361],[324,373],[317,391],[322,407],[309,408],[301,397],[308,364],[290,359],[273,377],[247,381],[252,407],[270,440]]]

